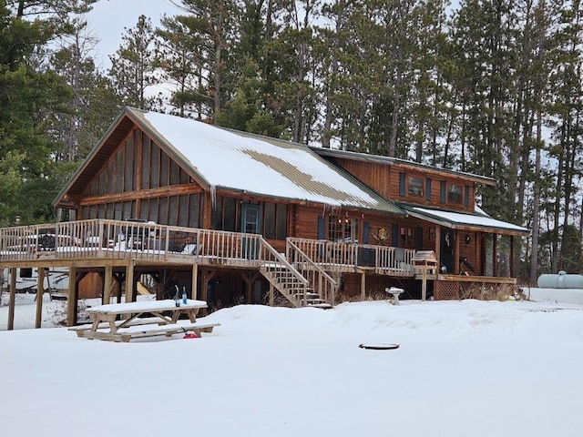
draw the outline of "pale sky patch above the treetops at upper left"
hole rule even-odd
[[[159,26],[163,14],[171,16],[179,13],[179,9],[169,0],[99,0],[87,15],[87,21],[99,39],[96,59],[101,61],[101,68],[109,68],[107,56],[116,53],[125,33],[124,27],[135,27],[139,15],[151,18],[155,28]]]

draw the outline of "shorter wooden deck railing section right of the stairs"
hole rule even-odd
[[[326,271],[374,269],[379,274],[413,276],[414,249],[343,243],[324,239],[288,241]]]

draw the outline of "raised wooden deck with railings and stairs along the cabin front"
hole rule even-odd
[[[111,269],[125,269],[133,280],[136,267],[177,267],[192,269],[193,283],[198,267],[254,269],[294,306],[334,305],[344,273],[421,280],[414,255],[413,249],[295,238],[286,240],[282,254],[261,235],[141,221],[89,219],[0,229],[3,268],[105,268],[106,277]],[[424,280],[435,281],[436,299],[459,295],[455,284],[461,282],[516,283],[511,278],[425,273]]]

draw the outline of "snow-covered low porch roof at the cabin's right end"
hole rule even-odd
[[[494,219],[485,214],[464,214],[461,212],[438,209],[402,206],[407,213],[416,218],[450,229],[491,232],[506,235],[527,235],[529,230],[506,221]]]

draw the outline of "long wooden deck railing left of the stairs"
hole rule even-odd
[[[0,260],[46,258],[171,258],[243,267],[259,267],[271,262],[287,264],[286,267],[294,269],[257,234],[109,219],[0,229]]]

